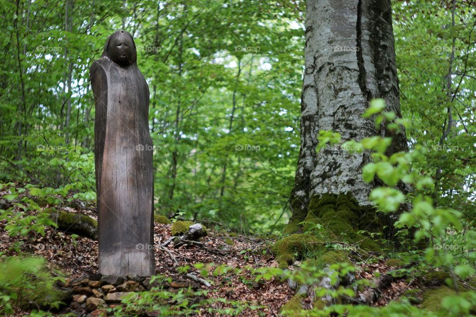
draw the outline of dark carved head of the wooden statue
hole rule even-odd
[[[114,32],[104,46],[103,56],[108,56],[121,66],[135,63],[137,61],[137,51],[132,35],[123,30]]]

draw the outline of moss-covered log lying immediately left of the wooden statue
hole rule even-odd
[[[53,211],[50,217],[56,222],[60,230],[95,240],[98,239],[98,222],[87,215],[67,211]]]

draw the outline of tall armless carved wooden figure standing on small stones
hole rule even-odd
[[[90,68],[99,222],[99,272],[155,274],[149,87],[132,36],[116,31]]]

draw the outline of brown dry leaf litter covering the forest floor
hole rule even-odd
[[[65,211],[81,213],[96,218],[95,211],[91,209],[62,208]],[[51,271],[60,269],[67,276],[66,284],[71,281],[78,281],[97,272],[98,268],[98,243],[97,241],[82,237],[72,236],[61,232],[53,227],[47,227],[44,236],[34,235],[28,238],[10,237],[5,230],[6,221],[0,221],[0,252],[4,255],[13,256],[15,242],[22,240],[21,251],[44,257],[48,261]],[[154,239],[156,245],[161,245],[171,237],[171,225],[155,223]],[[175,248],[173,244],[167,247],[156,248],[155,261],[156,273],[170,277],[179,287],[191,286],[194,289],[206,289],[206,297],[221,298],[226,301],[217,301],[208,307],[201,309],[198,316],[219,316],[213,313],[216,308],[231,307],[232,302],[241,301],[248,305],[258,306],[258,309],[245,309],[239,316],[279,316],[281,307],[295,294],[290,289],[286,281],[279,278],[270,280],[260,280],[255,282],[250,273],[240,275],[209,275],[206,279],[211,286],[205,286],[189,279],[181,266],[188,265],[189,272],[194,272],[200,276],[200,270],[193,264],[215,263],[225,264],[233,267],[251,266],[253,268],[277,267],[278,264],[272,255],[270,246],[274,242],[272,239],[258,239],[254,237],[240,236],[208,230],[208,236],[201,239],[201,245],[182,245]],[[60,247],[51,247],[60,246]],[[298,265],[298,263],[296,264]],[[357,279],[375,279],[390,270],[384,259],[375,261],[365,261],[358,264]],[[295,269],[297,266],[290,266]],[[391,300],[398,298],[404,291],[412,289],[405,280],[392,283],[390,287],[383,291],[375,306],[385,306]],[[303,299],[303,307],[312,308],[310,299]],[[84,306],[84,305],[83,305]],[[77,307],[68,306],[60,312],[61,315],[72,312],[77,316],[88,316],[87,311],[76,312]],[[210,310],[211,308],[211,310]],[[15,310],[15,316],[28,316],[29,312],[21,309]],[[223,316],[223,315],[220,315]]]

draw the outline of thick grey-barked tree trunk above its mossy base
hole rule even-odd
[[[390,0],[307,0],[305,27],[295,223],[306,217],[312,197],[349,193],[368,205],[374,186],[361,177],[369,153],[327,147],[316,154],[319,130],[339,132],[343,140],[391,136],[389,153],[407,148],[405,133],[391,135],[361,117],[373,98],[385,99],[387,110],[400,116]]]

